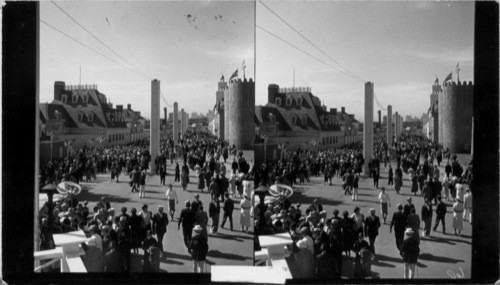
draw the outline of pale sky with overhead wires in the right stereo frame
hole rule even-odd
[[[263,4],[330,58],[315,49]],[[432,84],[459,62],[460,81],[473,81],[474,5],[472,2],[257,1],[256,24],[311,54],[256,29],[256,105],[267,103],[271,83],[307,86],[328,108],[363,121],[364,82],[393,113],[420,118],[429,108]],[[332,68],[334,67],[334,68]],[[336,70],[337,69],[337,70]],[[344,71],[345,72],[345,71]],[[374,101],[374,117],[381,109]],[[385,111],[382,112],[384,114]]]

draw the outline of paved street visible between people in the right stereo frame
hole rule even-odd
[[[460,156],[459,161],[463,165],[465,161],[469,161],[470,156]],[[444,173],[444,165],[441,164],[441,175]],[[423,204],[421,196],[413,196],[410,193],[410,181],[408,176],[404,174],[403,187],[401,195],[396,195],[394,187],[387,186],[387,172],[389,167],[384,168],[381,164],[381,177],[379,187],[385,187],[391,199],[387,224],[382,224],[379,229],[379,236],[375,242],[377,252],[377,260],[372,265],[373,278],[403,278],[403,262],[400,257],[394,238],[394,232],[389,233],[389,226],[392,218],[392,213],[396,210],[398,203],[405,204],[408,197],[412,197],[417,214],[420,216],[420,210]],[[394,169],[394,164],[393,164]],[[356,206],[361,208],[361,212],[369,215],[369,209],[375,208],[377,216],[383,222],[380,206],[378,204],[379,190],[373,187],[371,178],[360,179],[359,200],[352,201],[350,196],[344,196],[342,190],[342,179],[336,177],[333,181],[333,186],[324,186],[323,177],[311,178],[309,183],[294,187],[292,203],[295,205],[301,203],[303,210],[308,207],[312,201],[317,198],[323,205],[323,209],[327,211],[328,218],[331,218],[334,209],[340,211],[348,210],[349,215],[353,213]],[[420,191],[418,192],[420,194]],[[452,228],[452,210],[451,203],[448,205],[448,214],[446,215],[446,235],[441,232],[441,225],[438,231],[431,232],[429,237],[422,237],[420,243],[420,256],[417,269],[417,278],[453,278],[457,275],[463,278],[470,278],[471,274],[471,254],[472,254],[472,226],[464,221],[464,230],[462,236],[453,235]],[[433,206],[435,211],[435,207]],[[433,215],[432,226],[434,226],[435,213]],[[423,222],[421,223],[423,227]],[[290,260],[290,259],[288,259]],[[293,262],[291,263],[293,272]],[[354,254],[351,258],[344,258],[343,262],[343,278],[352,278],[354,270]]]

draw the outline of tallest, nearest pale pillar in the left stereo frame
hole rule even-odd
[[[160,81],[151,82],[151,126],[149,134],[151,154],[151,173],[155,173],[155,159],[160,152]]]

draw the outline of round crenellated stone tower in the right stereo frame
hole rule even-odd
[[[444,83],[439,94],[440,143],[452,153],[470,153],[472,139],[472,104],[474,85],[471,81]],[[442,98],[442,100],[440,100]]]

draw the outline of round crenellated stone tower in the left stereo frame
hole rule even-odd
[[[230,80],[224,90],[226,140],[238,149],[253,149],[255,139],[255,83],[250,78]]]

